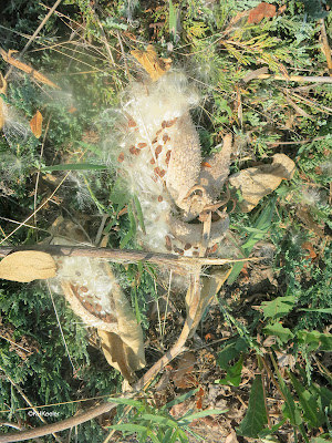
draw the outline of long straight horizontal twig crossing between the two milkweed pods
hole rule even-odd
[[[156,265],[168,265],[178,268],[193,269],[197,266],[215,266],[226,265],[229,262],[238,261],[258,261],[263,257],[252,258],[214,258],[214,257],[184,257],[173,254],[160,253],[146,253],[143,250],[131,249],[111,249],[111,248],[95,248],[92,246],[68,246],[68,245],[31,245],[31,246],[1,246],[0,257],[6,257],[9,254],[21,250],[38,250],[50,254],[52,256],[65,257],[91,257],[91,258],[105,258],[112,261],[133,262],[133,261],[148,261]]]

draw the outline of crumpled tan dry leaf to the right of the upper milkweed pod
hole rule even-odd
[[[271,194],[282,179],[291,179],[295,171],[294,162],[284,154],[273,155],[271,165],[249,167],[229,177],[231,186],[239,189],[242,202],[239,203],[243,213],[250,213],[259,200]]]

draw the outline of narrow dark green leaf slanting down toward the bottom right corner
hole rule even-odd
[[[303,419],[307,424],[309,424],[310,427],[321,426],[325,418],[323,411],[319,408],[317,395],[305,390],[292,372],[290,372],[289,375],[299,396],[303,410]]]

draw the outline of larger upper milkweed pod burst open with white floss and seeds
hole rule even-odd
[[[197,93],[183,74],[168,72],[154,83],[134,83],[126,96],[125,137],[117,161],[120,174],[138,197],[144,214],[146,234],[141,233],[139,240],[149,250],[195,256],[198,253],[193,245],[199,243],[203,225],[184,224],[214,203],[215,188],[221,183],[215,176],[209,189],[211,174],[201,172],[199,137],[189,114],[198,103]],[[229,145],[231,138],[228,151]],[[226,163],[224,176],[228,175],[229,158]],[[204,187],[201,195],[194,194],[196,186]],[[227,216],[221,225],[218,238],[228,228]],[[177,230],[185,230],[188,241],[183,235],[177,237]]]

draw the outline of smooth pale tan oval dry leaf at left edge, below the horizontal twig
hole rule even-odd
[[[55,276],[55,261],[50,254],[35,250],[12,253],[0,261],[0,278],[30,282]]]

